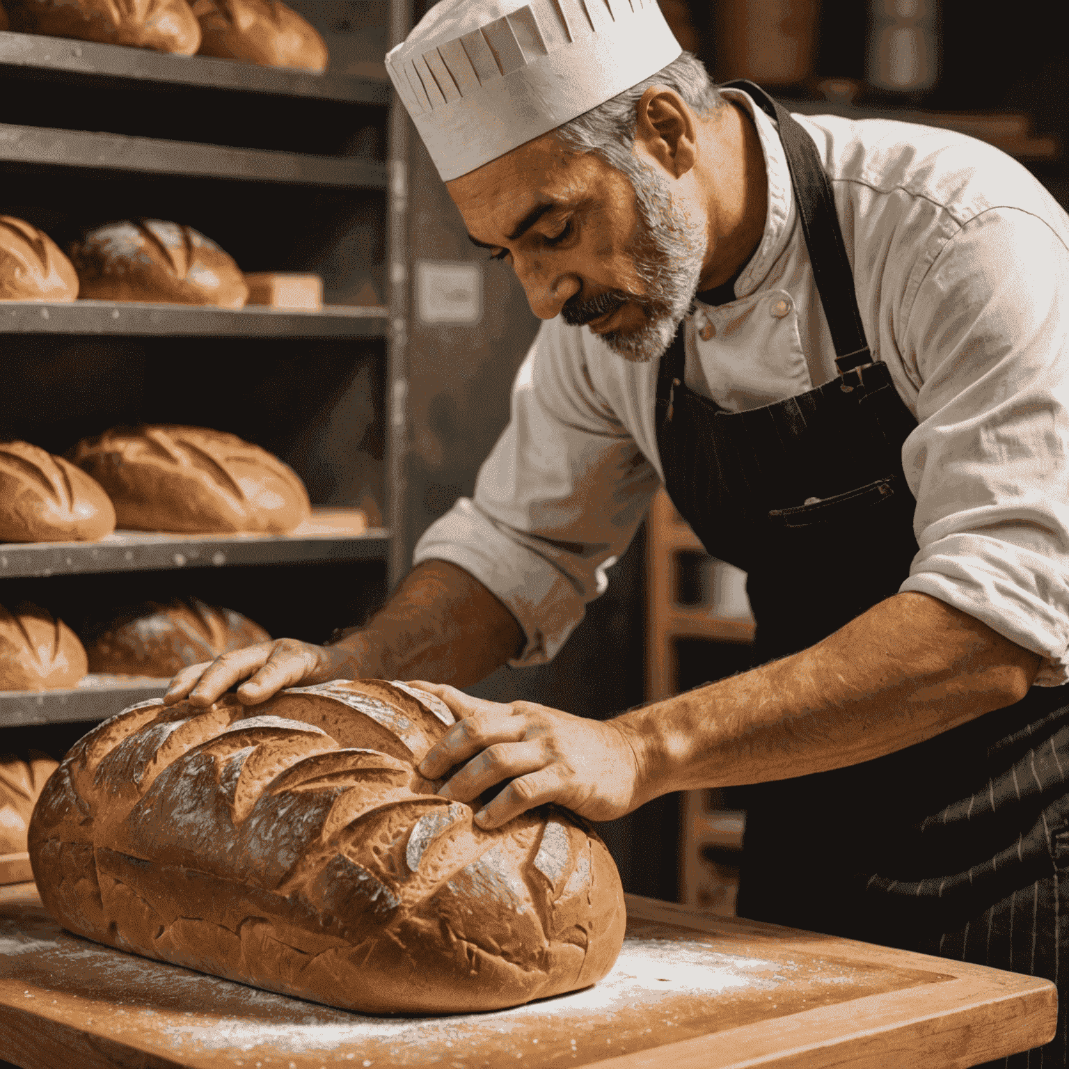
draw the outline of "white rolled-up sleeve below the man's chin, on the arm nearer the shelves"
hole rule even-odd
[[[583,337],[544,323],[512,387],[511,418],[476,480],[419,540],[509,608],[526,635],[510,662],[548,661],[605,590],[660,478],[599,396]]]

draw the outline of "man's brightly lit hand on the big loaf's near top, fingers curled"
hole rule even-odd
[[[471,802],[512,778],[476,815],[480,827],[500,827],[520,814],[556,802],[589,820],[614,820],[639,802],[639,768],[615,722],[572,716],[529,701],[500,704],[452,686],[412,682],[437,695],[460,721],[428,752],[420,774],[450,776],[438,793]]]

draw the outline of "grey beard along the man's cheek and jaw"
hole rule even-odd
[[[637,165],[629,174],[635,189],[638,210],[637,236],[633,262],[645,292],[620,294],[639,307],[646,322],[635,330],[611,330],[601,340],[618,356],[633,363],[660,359],[698,292],[706,234],[673,211],[667,185],[652,169]],[[620,301],[622,304],[622,301]],[[568,310],[564,320],[568,322]]]

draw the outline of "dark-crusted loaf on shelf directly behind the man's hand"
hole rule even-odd
[[[87,640],[86,653],[90,671],[169,677],[186,665],[269,640],[263,628],[241,613],[186,598],[124,613]]]

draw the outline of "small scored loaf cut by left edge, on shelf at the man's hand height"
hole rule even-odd
[[[87,670],[86,650],[62,621],[30,602],[0,605],[0,691],[74,686]]]

